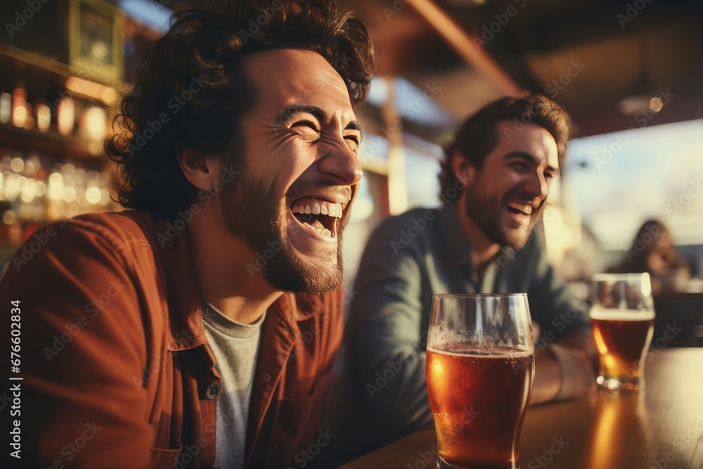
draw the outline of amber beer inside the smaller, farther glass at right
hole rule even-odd
[[[590,316],[602,377],[640,378],[654,333],[654,311],[593,308]]]

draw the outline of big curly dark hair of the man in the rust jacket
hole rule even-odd
[[[113,198],[155,217],[175,216],[197,189],[176,155],[234,148],[238,120],[257,88],[242,59],[268,49],[323,56],[347,84],[352,104],[366,98],[373,52],[366,28],[336,1],[226,1],[217,11],[184,10],[135,63],[134,87],[105,139],[117,162]]]

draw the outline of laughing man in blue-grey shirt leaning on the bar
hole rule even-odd
[[[489,103],[447,149],[443,207],[388,219],[371,237],[347,355],[358,414],[373,416],[367,423],[382,434],[375,443],[432,426],[425,347],[434,293],[527,293],[543,349],[531,404],[593,389],[588,315],[533,236],[568,134],[566,113],[543,96]]]

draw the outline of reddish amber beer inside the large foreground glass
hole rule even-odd
[[[460,468],[515,468],[534,352],[427,349],[427,394],[439,456]]]

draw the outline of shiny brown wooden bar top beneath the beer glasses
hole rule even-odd
[[[703,349],[651,349],[645,392],[598,390],[530,407],[522,469],[703,468]],[[415,432],[340,469],[434,469],[434,431]]]

